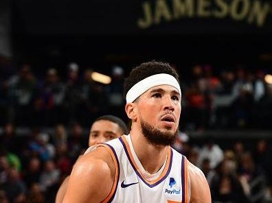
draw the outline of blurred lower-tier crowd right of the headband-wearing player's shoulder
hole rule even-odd
[[[271,143],[236,139],[224,148],[219,143],[212,138],[190,141],[180,133],[173,147],[203,171],[212,202],[272,202]]]

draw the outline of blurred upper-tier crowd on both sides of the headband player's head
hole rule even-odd
[[[237,66],[218,69],[209,65],[176,67],[181,75],[184,130],[270,128],[272,85],[264,81],[262,69],[249,71]],[[13,71],[11,71],[13,70]],[[49,68],[32,70],[0,69],[0,124],[16,126],[56,126],[80,122],[89,126],[95,117],[114,113],[124,120],[122,67],[111,69],[111,84],[91,78],[91,69],[76,63],[64,72]]]

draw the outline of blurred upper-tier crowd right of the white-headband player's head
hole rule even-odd
[[[216,71],[216,72],[215,72]],[[266,71],[192,67],[183,83],[183,117],[187,130],[269,129],[272,85],[264,81]]]

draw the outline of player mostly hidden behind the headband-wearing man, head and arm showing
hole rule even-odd
[[[89,134],[89,147],[110,141],[117,137],[122,136],[122,134],[127,134],[128,128],[122,119],[112,116],[105,115],[95,119],[93,125],[91,126]],[[56,203],[63,202],[63,198],[67,191],[67,186],[69,182],[69,176],[65,178],[63,184],[60,185],[58,193],[56,195]]]

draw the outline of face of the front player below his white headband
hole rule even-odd
[[[169,85],[150,88],[141,95],[138,106],[141,121],[161,132],[177,132],[181,115],[181,95],[176,88]]]

